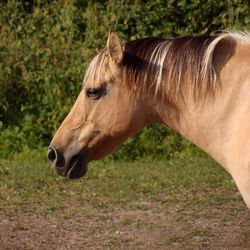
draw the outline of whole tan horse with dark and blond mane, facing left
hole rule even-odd
[[[110,31],[48,159],[59,175],[80,178],[90,161],[152,123],[165,124],[214,158],[250,208],[250,35],[122,42]]]

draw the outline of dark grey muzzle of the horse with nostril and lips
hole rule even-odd
[[[87,161],[79,152],[77,154],[64,154],[61,150],[50,145],[47,156],[57,174],[61,176],[78,179],[87,173]]]

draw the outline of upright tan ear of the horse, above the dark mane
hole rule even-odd
[[[112,60],[119,64],[123,58],[122,43],[116,32],[112,30],[109,31],[107,48]]]

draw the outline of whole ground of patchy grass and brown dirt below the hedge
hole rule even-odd
[[[70,181],[44,155],[0,160],[0,249],[250,248],[250,211],[206,156],[103,160]]]

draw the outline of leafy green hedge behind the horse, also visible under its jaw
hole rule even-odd
[[[250,30],[249,9],[245,0],[2,0],[0,157],[49,144],[109,29],[124,40]],[[170,129],[151,125],[112,158],[197,152]]]

